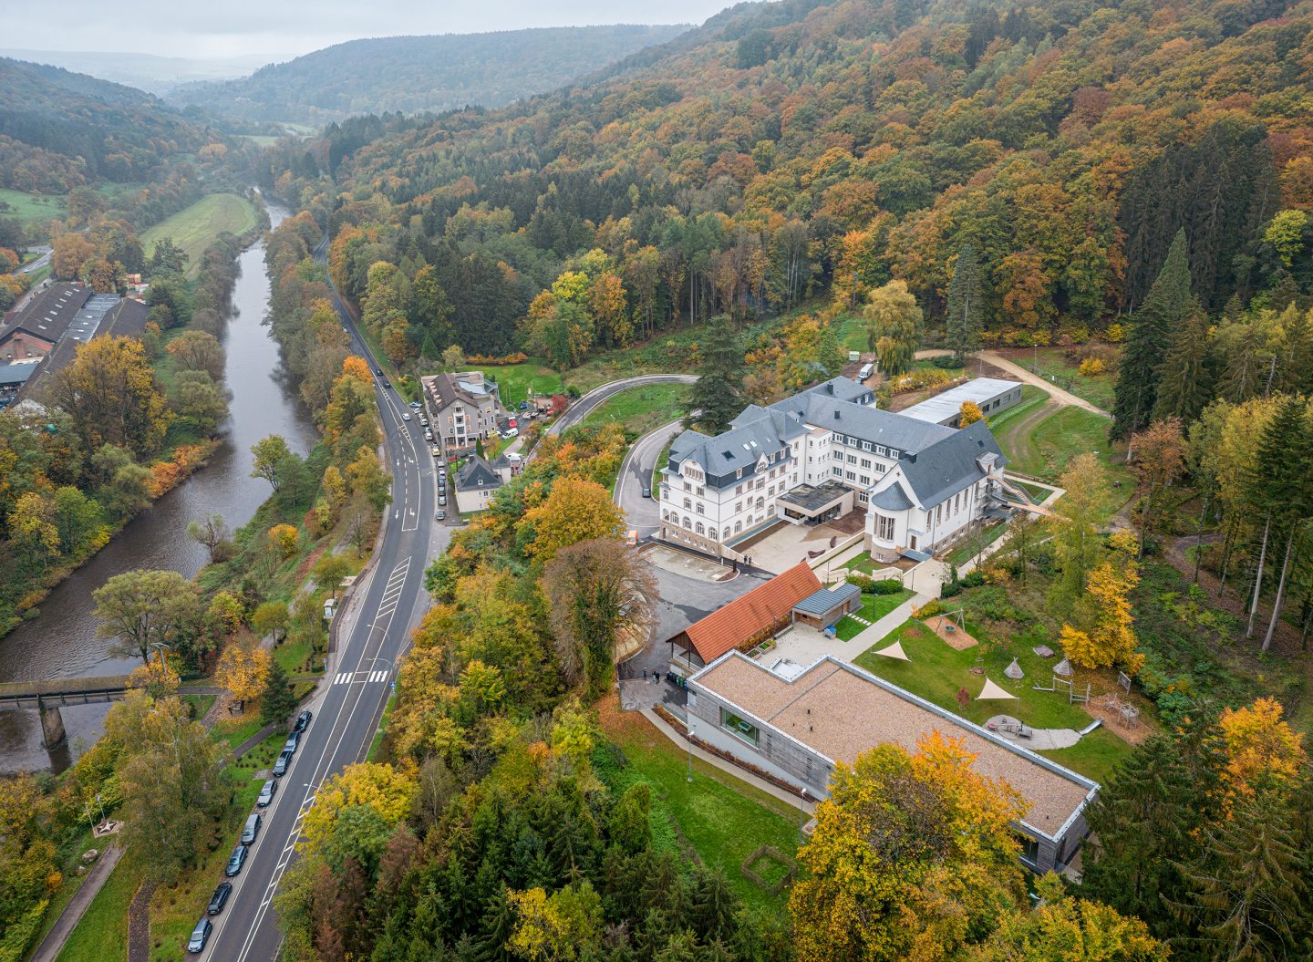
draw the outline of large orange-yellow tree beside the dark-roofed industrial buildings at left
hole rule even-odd
[[[169,411],[139,340],[110,336],[80,345],[47,390],[88,451],[116,445],[140,457],[164,440]]]

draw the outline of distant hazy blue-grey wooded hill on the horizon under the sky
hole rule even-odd
[[[616,25],[349,41],[240,80],[185,84],[171,100],[240,119],[302,123],[503,106],[687,29]]]

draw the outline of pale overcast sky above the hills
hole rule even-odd
[[[733,0],[0,0],[7,47],[257,55],[360,37],[587,24],[701,24]]]

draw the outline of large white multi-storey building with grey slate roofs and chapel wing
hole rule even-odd
[[[926,556],[1003,504],[1006,458],[983,421],[957,429],[876,407],[876,395],[831,378],[748,406],[730,430],[685,430],[660,478],[660,534],[718,556],[780,524],[867,511],[880,560]]]

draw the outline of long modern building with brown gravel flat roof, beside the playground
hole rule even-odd
[[[909,752],[937,731],[961,739],[981,776],[1006,781],[1028,805],[1014,826],[1022,861],[1061,871],[1088,835],[1098,782],[1016,745],[856,665],[826,656],[789,677],[729,651],[688,679],[693,734],[814,798],[830,794],[835,764],[897,744]]]

